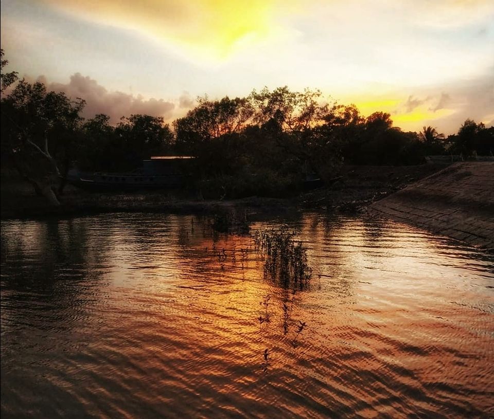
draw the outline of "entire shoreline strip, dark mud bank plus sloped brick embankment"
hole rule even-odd
[[[494,163],[448,166],[347,166],[332,185],[288,198],[190,199],[190,194],[89,193],[68,188],[51,207],[32,191],[5,193],[1,220],[53,220],[104,213],[239,214],[252,220],[301,211],[367,214],[394,220],[494,252]],[[483,187],[479,186],[483,185]],[[5,199],[6,198],[6,199]]]

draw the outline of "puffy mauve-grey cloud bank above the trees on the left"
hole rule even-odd
[[[107,114],[111,123],[117,123],[122,116],[132,114],[147,114],[162,116],[168,119],[172,116],[175,105],[163,99],[144,99],[141,95],[130,95],[122,92],[109,92],[99,85],[96,80],[84,77],[79,73],[70,77],[70,82],[46,83],[44,77],[38,78],[45,83],[48,90],[64,92],[69,98],[82,98],[86,106],[82,112],[85,118],[92,118],[96,114]]]

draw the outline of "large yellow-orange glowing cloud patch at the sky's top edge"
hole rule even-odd
[[[188,52],[188,58],[206,61],[224,60],[238,47],[269,38],[276,32],[274,16],[281,5],[278,0],[47,2],[88,20],[145,33],[175,52]]]

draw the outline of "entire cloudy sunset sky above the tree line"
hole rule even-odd
[[[0,31],[7,71],[88,118],[287,85],[405,131],[494,123],[493,0],[1,0]]]

